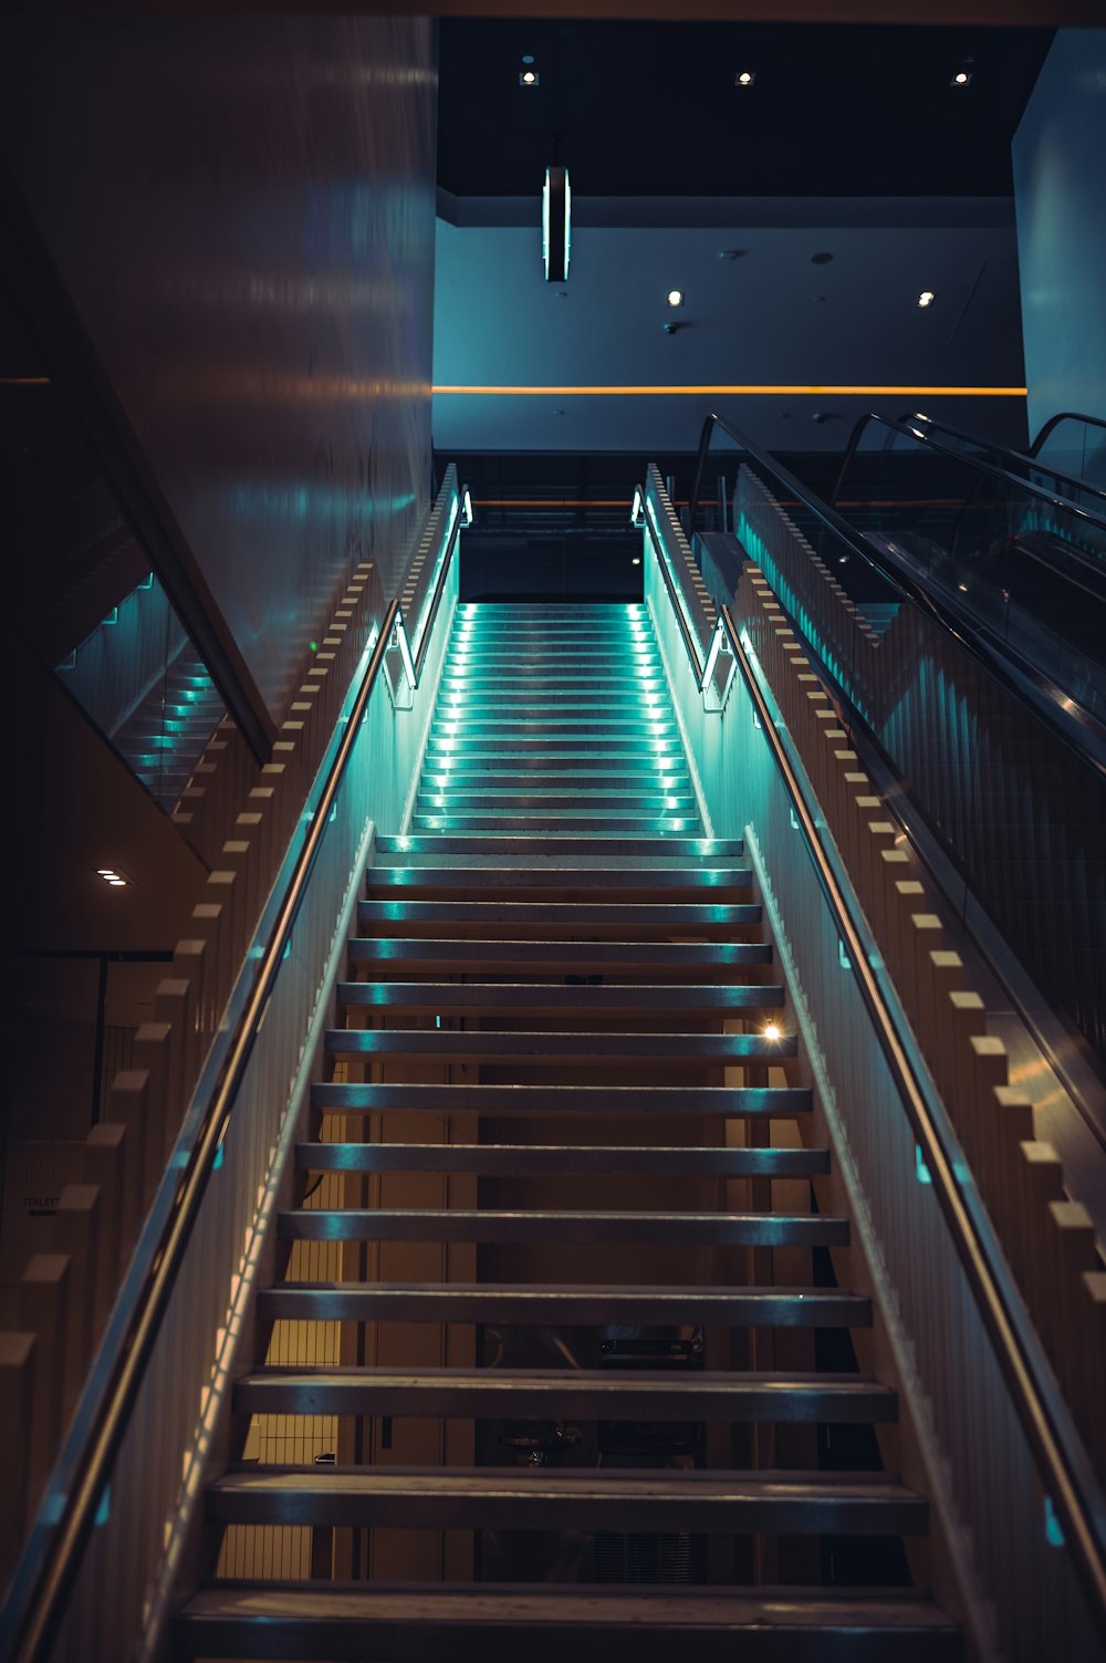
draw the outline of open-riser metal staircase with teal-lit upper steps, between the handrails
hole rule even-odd
[[[210,1487],[253,1568],[225,1547],[175,1656],[960,1658],[906,1572],[926,1503],[880,1462],[896,1397],[855,1362],[787,991],[644,607],[459,609],[349,976],[236,1387],[246,1450],[324,1427],[296,1445],[324,1463]],[[288,1527],[309,1568],[271,1580]]]

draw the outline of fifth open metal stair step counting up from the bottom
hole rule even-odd
[[[847,1247],[848,1219],[823,1212],[567,1212],[492,1207],[288,1207],[284,1242],[554,1242],[664,1247]]]

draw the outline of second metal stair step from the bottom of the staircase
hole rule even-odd
[[[695,1530],[921,1535],[923,1497],[886,1478],[807,1472],[531,1472],[521,1467],[246,1467],[208,1488],[236,1525],[439,1530]]]

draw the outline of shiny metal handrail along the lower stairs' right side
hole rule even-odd
[[[891,1008],[873,971],[875,955],[867,940],[867,928],[860,923],[860,908],[852,903],[837,880],[818,830],[818,817],[810,810],[773,713],[740,642],[730,609],[725,605],[720,610],[720,622],[790,798],[795,820],[803,833],[807,853],[843,943],[843,956],[853,970],[876,1039],[895,1076],[956,1254],[995,1347],[1018,1417],[1033,1447],[1044,1493],[1053,1498],[1091,1600],[1096,1625],[1106,1638],[1106,1505],[1094,1470],[1071,1424],[1036,1330],[1013,1285],[978,1192],[956,1177],[956,1167],[963,1167],[956,1133],[940,1099],[933,1101],[933,1089],[926,1088],[925,1076],[911,1061],[910,1046],[900,1036]]]

